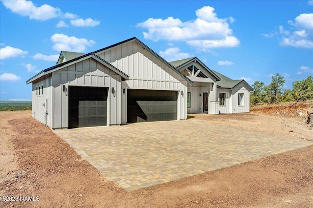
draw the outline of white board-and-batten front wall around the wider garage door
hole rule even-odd
[[[187,81],[140,44],[129,42],[96,55],[129,75],[129,80],[122,82],[126,89],[122,94],[122,123],[127,122],[127,89],[178,91],[178,120],[187,118]]]

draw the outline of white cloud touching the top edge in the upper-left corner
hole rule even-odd
[[[61,14],[59,8],[47,4],[37,7],[32,1],[27,0],[4,0],[2,3],[12,12],[22,16],[28,16],[31,20],[45,21],[56,18]]]

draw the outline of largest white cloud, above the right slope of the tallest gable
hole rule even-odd
[[[214,8],[204,6],[196,11],[198,17],[193,21],[182,22],[179,19],[149,18],[137,23],[137,27],[148,29],[143,32],[144,38],[158,41],[185,41],[197,48],[234,47],[240,44],[232,35],[227,19],[232,22],[232,17],[219,19]]]

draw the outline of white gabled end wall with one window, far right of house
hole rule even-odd
[[[238,105],[238,94],[243,93],[243,105]],[[232,89],[232,113],[248,113],[250,112],[250,92],[247,90],[245,83],[239,83]]]

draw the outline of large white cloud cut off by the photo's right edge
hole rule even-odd
[[[283,34],[280,45],[302,48],[313,48],[313,13],[300,14],[294,21],[288,21],[292,25],[292,33],[282,26],[279,31]]]

